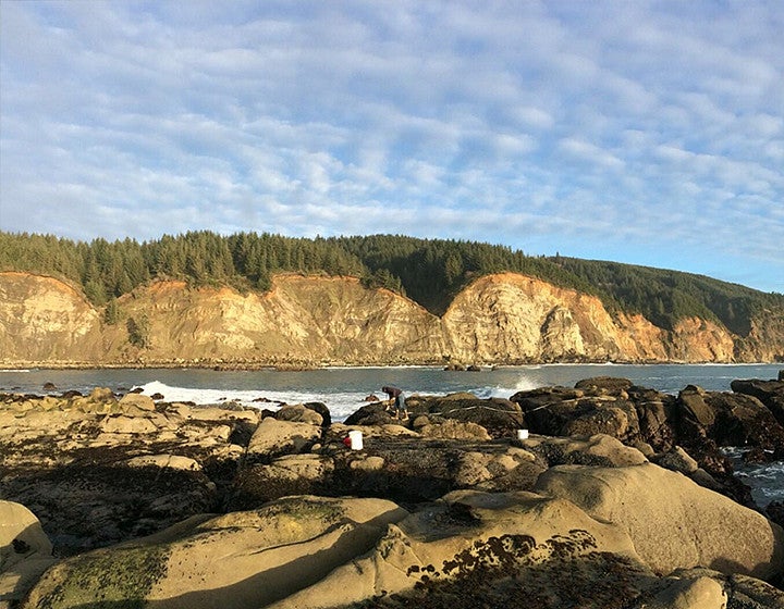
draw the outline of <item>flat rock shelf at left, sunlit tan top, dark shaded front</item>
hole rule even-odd
[[[29,507],[60,556],[220,509],[260,418],[109,389],[1,399],[0,497]]]

